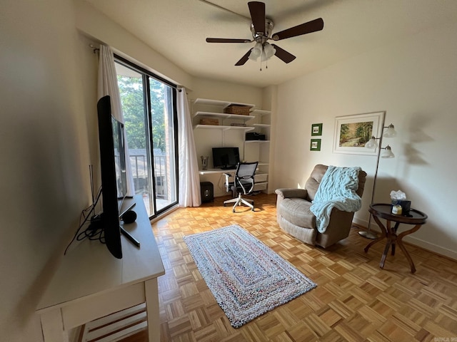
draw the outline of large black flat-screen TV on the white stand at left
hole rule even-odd
[[[126,195],[126,157],[124,125],[111,115],[108,95],[97,103],[101,166],[102,213],[104,242],[114,257],[122,258],[119,198]]]

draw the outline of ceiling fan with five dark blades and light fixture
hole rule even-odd
[[[236,66],[243,66],[248,59],[256,61],[258,57],[261,58],[261,61],[267,61],[273,55],[281,59],[284,63],[290,63],[296,56],[293,56],[293,54],[288,53],[276,44],[268,43],[268,41],[281,41],[281,39],[301,36],[323,29],[323,20],[322,18],[318,18],[272,34],[271,31],[274,24],[271,19],[265,17],[265,4],[261,1],[250,1],[248,2],[248,7],[252,19],[251,33],[253,39],[206,38],[206,42],[208,43],[252,43],[255,41],[256,45],[236,62]]]

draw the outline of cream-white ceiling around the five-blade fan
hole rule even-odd
[[[251,39],[246,0],[86,1],[191,75],[252,86],[283,83],[433,26],[457,22],[457,0],[265,0],[273,33],[316,18],[323,19],[324,28],[276,42],[296,60],[286,64],[273,56],[268,68],[263,64],[259,71],[260,61],[234,66],[254,43],[205,41]]]

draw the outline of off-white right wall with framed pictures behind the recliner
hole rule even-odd
[[[422,32],[279,86],[276,187],[303,187],[313,165],[360,165],[368,172],[363,208],[368,223],[376,157],[332,152],[335,118],[386,110],[395,159],[379,163],[375,202],[402,190],[428,222],[408,241],[457,259],[457,26]],[[309,150],[311,124],[323,123],[321,152]]]

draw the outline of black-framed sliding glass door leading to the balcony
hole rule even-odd
[[[176,88],[116,57],[136,194],[149,217],[177,204]]]

